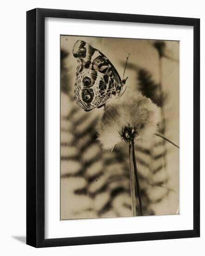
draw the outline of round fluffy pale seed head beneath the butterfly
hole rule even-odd
[[[129,131],[135,142],[149,141],[157,132],[161,110],[142,94],[126,95],[107,103],[98,123],[98,140],[104,149],[114,149]]]

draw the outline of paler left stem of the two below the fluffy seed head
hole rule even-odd
[[[130,173],[130,194],[131,194],[131,208],[133,216],[136,216],[136,195],[135,195],[135,172],[133,166],[132,143],[129,140],[129,173]]]

